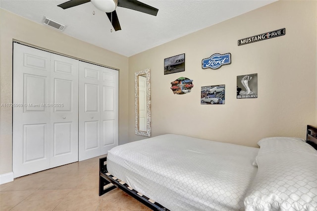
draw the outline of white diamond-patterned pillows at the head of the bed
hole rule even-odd
[[[317,151],[298,138],[259,141],[258,172],[246,211],[316,211]]]

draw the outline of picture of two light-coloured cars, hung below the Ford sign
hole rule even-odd
[[[224,104],[225,85],[204,86],[201,88],[201,105]]]

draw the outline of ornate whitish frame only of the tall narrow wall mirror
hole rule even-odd
[[[140,130],[140,96],[139,96],[139,77],[146,78],[146,125],[145,130]],[[140,136],[151,137],[151,87],[150,87],[150,69],[141,70],[134,73],[134,108],[135,108],[135,134]],[[143,98],[142,98],[143,99]]]

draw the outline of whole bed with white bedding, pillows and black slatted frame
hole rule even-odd
[[[317,210],[317,151],[270,137],[259,148],[166,134],[100,160],[100,195],[119,187],[153,210]]]

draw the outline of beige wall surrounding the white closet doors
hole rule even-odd
[[[12,39],[119,69],[119,143],[128,140],[128,57],[0,9],[0,103],[12,103]],[[0,174],[12,171],[12,108],[0,107]]]

